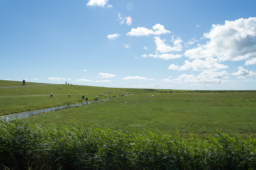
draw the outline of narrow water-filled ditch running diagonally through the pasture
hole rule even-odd
[[[128,96],[128,95],[131,95],[131,94],[125,94],[123,96]],[[122,97],[122,96],[119,96],[119,97]],[[38,113],[46,113],[46,112],[57,111],[57,110],[70,108],[70,107],[78,107],[78,106],[91,104],[91,103],[97,103],[97,102],[106,101],[106,100],[110,100],[110,99],[114,99],[114,98],[117,98],[117,97],[109,97],[109,98],[105,98],[105,99],[98,99],[98,100],[92,100],[92,101],[86,101],[86,102],[80,102],[80,103],[74,103],[74,104],[67,104],[67,105],[56,106],[56,107],[51,107],[51,108],[38,109],[35,111],[14,113],[11,115],[0,116],[0,119],[4,119],[5,121],[11,121],[13,119],[29,117],[30,115],[37,115]]]

